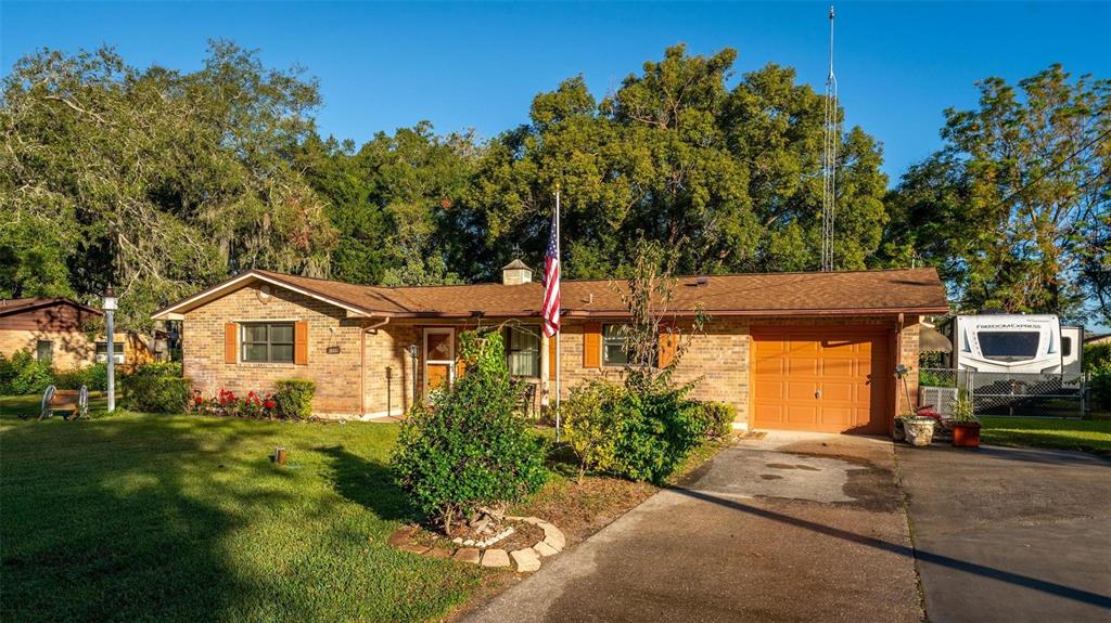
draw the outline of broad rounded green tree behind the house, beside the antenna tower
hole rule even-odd
[[[682,273],[817,268],[823,99],[777,65],[730,89],[735,57],[678,45],[601,101],[581,78],[538,95],[531,122],[483,153],[452,215],[466,233],[453,264],[492,277],[517,245],[539,258],[560,184],[573,277],[623,274],[641,233]],[[887,178],[874,140],[858,127],[840,139],[837,265],[861,268]]]

